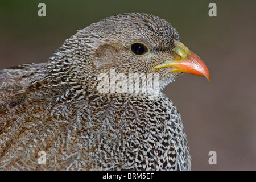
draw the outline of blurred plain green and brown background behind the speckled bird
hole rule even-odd
[[[46,17],[38,16],[40,2]],[[217,17],[208,15],[211,2]],[[0,69],[46,62],[76,30],[130,12],[166,19],[210,71],[210,82],[184,74],[164,90],[181,113],[192,169],[256,170],[255,0],[1,1]]]

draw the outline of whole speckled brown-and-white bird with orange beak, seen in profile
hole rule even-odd
[[[2,69],[0,170],[191,170],[181,115],[162,92],[183,73],[210,81],[171,23],[146,13],[109,16],[45,63]]]

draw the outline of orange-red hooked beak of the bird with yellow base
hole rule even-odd
[[[195,53],[189,51],[183,43],[175,41],[175,53],[181,59],[171,60],[167,59],[162,64],[156,65],[153,69],[172,67],[171,72],[191,73],[193,75],[204,76],[210,81],[210,73],[204,61],[201,60]]]

